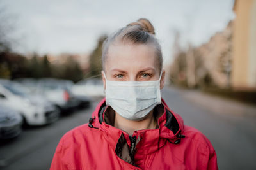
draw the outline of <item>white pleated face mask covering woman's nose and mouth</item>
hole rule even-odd
[[[157,104],[161,104],[160,80],[108,81],[106,104],[129,120],[142,120]]]

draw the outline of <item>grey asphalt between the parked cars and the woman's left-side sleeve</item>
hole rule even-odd
[[[61,136],[70,129],[85,124],[97,102],[90,108],[61,117],[58,122],[43,127],[26,128],[22,134],[0,146],[0,169],[49,169]]]

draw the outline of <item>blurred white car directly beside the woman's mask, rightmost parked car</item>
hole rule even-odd
[[[104,97],[103,82],[99,78],[81,80],[73,85],[72,92],[76,96]]]

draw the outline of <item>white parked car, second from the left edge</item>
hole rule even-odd
[[[58,120],[60,111],[42,96],[29,93],[19,83],[0,80],[0,103],[17,110],[28,125],[45,125]]]

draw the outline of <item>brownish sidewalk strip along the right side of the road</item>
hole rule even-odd
[[[250,105],[232,99],[214,96],[199,90],[173,88],[179,90],[180,94],[192,103],[196,103],[214,113],[256,117],[256,106],[253,106],[252,104]]]

